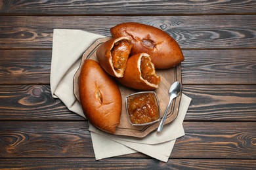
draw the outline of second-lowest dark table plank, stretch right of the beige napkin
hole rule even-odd
[[[256,122],[183,122],[171,158],[255,159]]]

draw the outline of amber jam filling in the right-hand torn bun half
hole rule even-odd
[[[140,59],[140,71],[144,80],[151,84],[160,84],[160,76],[156,75],[154,64],[150,61],[150,58],[142,56]]]

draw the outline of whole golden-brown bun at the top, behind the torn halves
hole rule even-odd
[[[151,25],[127,22],[110,29],[112,37],[129,37],[133,43],[131,55],[145,52],[156,69],[174,67],[184,61],[179,44],[168,33]]]

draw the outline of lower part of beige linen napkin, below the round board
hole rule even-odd
[[[143,139],[115,137],[114,135],[109,135],[108,133],[102,133],[102,131],[96,129],[93,126],[90,126],[89,130],[93,130],[91,131],[92,139],[93,137],[100,137],[100,140],[93,140],[93,148],[95,150],[96,160],[109,158],[112,156],[119,156],[121,155],[120,153],[134,153],[134,150],[137,150],[138,152],[151,156],[152,158],[167,162],[169,156],[171,155],[171,151],[173,150],[176,139],[185,135],[182,122],[188,110],[188,106],[190,105],[190,101],[190,97],[182,94],[179,114],[177,118],[170,124],[165,125],[161,134],[153,131]],[[179,131],[172,131],[173,128],[179,129]],[[165,133],[167,136],[169,135],[169,139],[171,139],[170,141],[164,140],[166,139]],[[154,137],[159,138],[159,140],[163,139],[165,142],[148,144],[150,143],[150,139],[154,141]],[[112,141],[116,141],[119,144],[113,143],[110,141],[110,139]],[[123,144],[128,148],[123,148],[120,144]],[[131,150],[131,148],[133,150]]]

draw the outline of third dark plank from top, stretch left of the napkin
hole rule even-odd
[[[51,50],[0,50],[0,84],[49,84]]]

